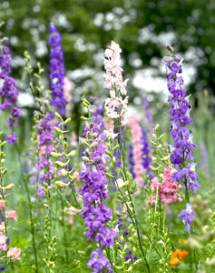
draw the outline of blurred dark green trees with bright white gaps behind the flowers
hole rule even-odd
[[[73,81],[73,103],[82,88],[103,96],[103,51],[111,40],[122,47],[124,78],[130,78],[130,101],[153,92],[157,99],[167,93],[161,57],[171,44],[185,59],[185,84],[189,93],[215,87],[215,2],[213,0],[11,0],[0,3],[5,22],[1,36],[10,39],[13,76],[24,79],[24,51],[48,72],[48,26],[62,34],[66,75]],[[20,92],[28,93],[18,81]],[[25,99],[25,97],[24,97]],[[162,99],[161,99],[162,101]],[[24,101],[22,104],[25,106]],[[162,106],[157,105],[157,108]],[[211,102],[211,109],[213,109]]]

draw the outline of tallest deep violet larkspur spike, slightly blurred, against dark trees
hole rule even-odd
[[[54,23],[50,24],[49,31],[53,34],[48,44],[50,45],[50,87],[51,106],[56,106],[56,111],[65,115],[66,100],[64,97],[64,54],[61,46],[61,35]]]

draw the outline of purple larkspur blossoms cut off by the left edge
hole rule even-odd
[[[18,98],[18,90],[15,87],[15,79],[9,76],[11,72],[11,60],[10,50],[4,45],[2,47],[2,53],[0,54],[0,78],[4,80],[0,88],[0,96],[4,98],[4,102],[0,105],[0,110],[5,111],[8,108],[11,109],[11,117],[7,118],[7,126],[14,128],[14,126],[18,126],[18,118],[22,116],[22,113],[21,109],[15,106]],[[6,141],[8,143],[17,141],[15,132],[7,136]]]

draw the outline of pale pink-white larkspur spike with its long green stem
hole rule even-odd
[[[128,108],[128,96],[126,96],[127,95],[126,84],[128,82],[128,79],[126,79],[125,81],[123,81],[122,79],[122,67],[119,66],[121,52],[122,52],[122,49],[120,48],[120,46],[113,41],[111,46],[108,46],[108,48],[105,50],[104,68],[105,68],[106,74],[104,75],[105,82],[103,87],[110,90],[110,97],[107,98],[105,101],[105,109],[106,109],[107,116],[113,119],[114,121],[113,126],[117,129],[116,131],[119,134],[118,151],[119,151],[120,160],[121,160],[121,166],[119,170],[122,176],[121,179],[124,182],[128,180],[132,182],[132,179],[131,179],[132,177],[129,177],[128,171],[125,167],[126,157],[125,157],[125,149],[124,149],[124,142],[123,142],[124,136],[122,135],[122,126],[124,126],[125,124],[125,117],[126,117],[127,108]],[[112,134],[110,134],[110,139],[112,139],[112,136],[114,138],[114,133],[113,133],[114,127],[112,127],[112,130],[111,130]],[[115,157],[112,157],[113,167],[116,166],[116,163],[114,163],[114,160],[115,160]],[[123,202],[125,203],[125,207],[129,213],[129,216],[133,220],[133,224],[136,227],[138,242],[142,252],[142,257],[144,258],[148,272],[150,272],[150,267],[142,247],[140,228],[139,228],[139,223],[135,213],[135,207],[133,205],[133,195],[132,195],[131,187],[127,185],[126,187],[127,190],[124,197],[124,194],[117,180],[115,181],[116,187],[118,188],[122,196]]]

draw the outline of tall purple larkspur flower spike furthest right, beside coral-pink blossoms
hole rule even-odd
[[[186,210],[182,210],[179,217],[183,219],[187,230],[191,230],[191,220],[193,219],[193,211],[191,208],[190,192],[197,193],[200,184],[198,176],[195,172],[195,163],[192,148],[196,145],[192,142],[190,130],[186,127],[193,120],[190,117],[191,105],[189,96],[182,88],[183,78],[182,62],[183,59],[177,59],[173,54],[173,49],[168,46],[171,56],[164,56],[163,62],[167,68],[167,79],[170,96],[168,102],[171,104],[169,113],[171,114],[171,136],[173,137],[174,146],[171,147],[171,161],[174,168],[171,168],[172,179],[177,182],[181,181],[185,189]]]

